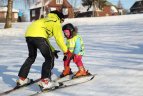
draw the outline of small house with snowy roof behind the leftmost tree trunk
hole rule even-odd
[[[0,7],[0,22],[6,21],[7,7]],[[17,22],[18,10],[12,9],[12,22]]]

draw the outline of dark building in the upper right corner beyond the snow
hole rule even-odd
[[[143,13],[143,0],[136,1],[130,8],[130,13]]]

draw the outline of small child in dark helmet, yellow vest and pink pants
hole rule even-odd
[[[88,71],[85,70],[82,63],[82,56],[84,55],[84,44],[81,36],[77,34],[77,27],[74,27],[71,23],[68,23],[65,24],[62,29],[67,39],[67,48],[71,52],[71,54],[70,56],[68,56],[68,58],[64,56],[64,70],[60,77],[72,74],[72,71],[70,69],[70,61],[72,59],[79,69],[78,72],[76,72],[76,74],[74,75],[74,77],[89,75]]]

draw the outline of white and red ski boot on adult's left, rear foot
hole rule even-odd
[[[33,82],[33,80],[29,78],[19,77],[19,79],[16,82],[17,82],[17,87],[20,87],[20,86],[30,84],[31,82]]]

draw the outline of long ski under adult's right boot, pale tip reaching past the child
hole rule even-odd
[[[54,90],[57,90],[57,89],[62,89],[62,88],[66,88],[66,87],[79,85],[79,84],[82,84],[82,83],[93,80],[95,75],[96,74],[88,75],[88,76],[82,76],[82,77],[79,77],[79,78],[72,78],[70,80],[62,81],[62,82],[59,82],[59,86],[55,86],[51,89],[40,90],[40,91],[30,95],[30,96],[37,96],[37,95],[40,95],[42,93],[51,92],[51,91],[54,91]]]

